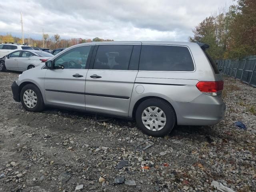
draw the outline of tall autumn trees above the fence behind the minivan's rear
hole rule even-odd
[[[210,45],[214,60],[256,55],[256,0],[238,0],[206,17],[193,30],[190,42]]]

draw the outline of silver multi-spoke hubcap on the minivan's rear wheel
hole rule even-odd
[[[151,131],[159,131],[166,124],[164,111],[158,107],[150,106],[142,112],[142,122]]]

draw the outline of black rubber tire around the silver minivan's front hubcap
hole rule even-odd
[[[26,104],[24,102],[23,95],[26,90],[32,90],[36,94],[37,102],[33,108],[29,108],[28,106],[26,106]],[[21,102],[22,106],[28,111],[40,112],[40,111],[44,110],[44,100],[43,100],[42,94],[41,94],[39,88],[37,86],[35,86],[34,84],[27,84],[21,89],[20,102]]]

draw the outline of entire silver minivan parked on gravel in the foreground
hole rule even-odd
[[[214,125],[224,116],[223,80],[192,42],[92,42],[72,46],[12,84],[28,111],[44,106],[136,119],[151,136],[178,125]],[[82,58],[80,62],[74,56]]]

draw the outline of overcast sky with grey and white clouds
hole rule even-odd
[[[188,41],[192,29],[233,0],[0,0],[0,34],[24,38]]]

